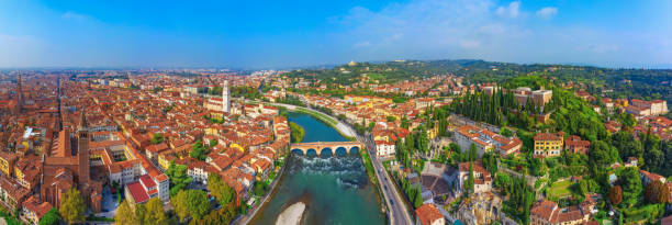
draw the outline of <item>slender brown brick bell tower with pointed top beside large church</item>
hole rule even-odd
[[[77,126],[77,158],[79,160],[79,184],[89,183],[89,127],[87,125],[86,110],[81,110],[81,117]]]

